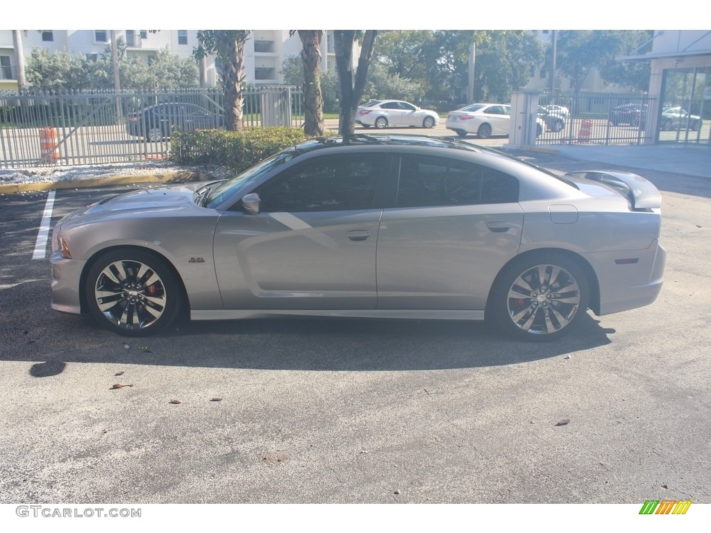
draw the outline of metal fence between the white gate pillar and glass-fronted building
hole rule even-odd
[[[587,94],[539,97],[539,117],[545,133],[536,144],[644,144],[655,139],[646,132],[647,95]],[[547,114],[546,114],[547,112]]]

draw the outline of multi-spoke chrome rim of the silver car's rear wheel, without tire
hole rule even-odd
[[[581,307],[578,281],[555,264],[523,271],[508,289],[506,305],[513,324],[525,333],[550,335],[564,329]]]

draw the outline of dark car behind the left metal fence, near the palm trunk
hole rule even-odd
[[[225,115],[213,113],[196,104],[156,104],[129,116],[129,135],[151,142],[167,139],[173,131],[195,131],[225,126]]]

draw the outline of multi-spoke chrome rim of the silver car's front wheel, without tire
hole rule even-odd
[[[166,309],[166,287],[150,266],[115,261],[97,276],[94,298],[109,322],[128,330],[147,328]]]

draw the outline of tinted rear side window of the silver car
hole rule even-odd
[[[518,202],[513,176],[454,159],[402,157],[398,208],[511,202]]]

